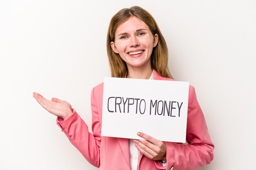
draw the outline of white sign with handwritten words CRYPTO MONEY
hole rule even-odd
[[[101,135],[186,142],[189,82],[104,78]]]

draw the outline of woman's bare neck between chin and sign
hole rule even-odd
[[[148,69],[128,69],[128,73],[126,75],[126,78],[140,78],[140,79],[149,79],[152,74],[151,66]]]

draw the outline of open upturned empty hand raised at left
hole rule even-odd
[[[36,92],[33,93],[33,97],[43,108],[63,120],[73,113],[71,105],[64,100],[58,98],[52,98],[52,101],[47,100],[41,94]]]

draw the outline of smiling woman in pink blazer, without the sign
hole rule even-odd
[[[173,81],[164,37],[153,17],[140,7],[122,9],[112,17],[107,51],[112,77]],[[57,124],[70,142],[101,170],[185,170],[213,159],[214,146],[193,86],[189,87],[187,145],[162,142],[142,132],[138,135],[146,140],[101,136],[103,83],[91,94],[93,134],[68,102],[57,98],[50,101],[37,93],[34,98],[58,116]]]

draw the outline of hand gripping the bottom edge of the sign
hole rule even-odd
[[[166,161],[166,144],[164,142],[145,133],[138,132],[137,135],[146,139],[133,139],[139,152],[149,159]]]

